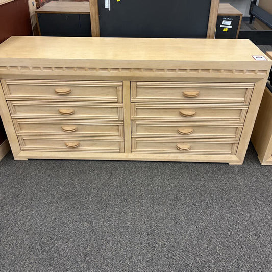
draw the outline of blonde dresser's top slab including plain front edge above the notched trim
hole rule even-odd
[[[156,38],[81,38],[13,36],[0,45],[0,61],[5,65],[68,64],[74,67],[96,64],[111,67],[185,66],[202,63],[232,67],[243,63],[245,69],[268,69],[272,62],[255,60],[265,55],[250,40],[237,39],[156,39]],[[267,58],[268,59],[268,58]],[[76,66],[77,65],[77,66]],[[226,65],[226,66],[224,66]],[[67,66],[66,66],[67,67]],[[68,66],[69,67],[69,66]],[[99,67],[99,66],[97,66]],[[206,67],[206,66],[205,66]],[[208,69],[208,67],[207,67]]]

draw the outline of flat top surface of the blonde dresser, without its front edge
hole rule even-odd
[[[252,61],[264,55],[249,40],[13,36],[0,58]]]

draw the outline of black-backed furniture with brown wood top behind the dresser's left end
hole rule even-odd
[[[89,2],[51,1],[35,13],[40,36],[91,36]]]

